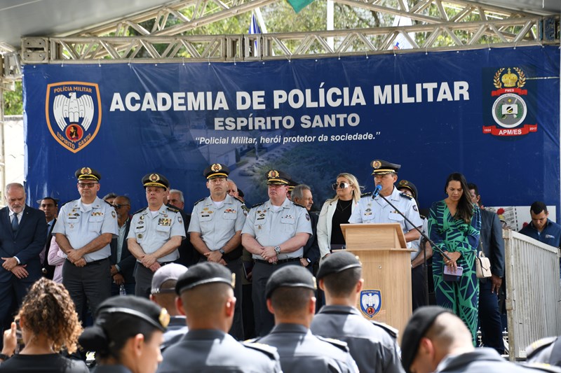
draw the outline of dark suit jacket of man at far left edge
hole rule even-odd
[[[34,282],[41,277],[39,253],[45,247],[47,237],[45,213],[26,205],[15,234],[12,231],[9,215],[8,207],[0,210],[0,258],[17,256],[20,264],[27,265],[25,269],[29,276],[25,278],[25,281]],[[8,282],[11,279],[17,279],[17,277],[0,267],[0,282]]]

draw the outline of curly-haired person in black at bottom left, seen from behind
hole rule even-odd
[[[16,323],[4,332],[4,349],[0,354],[0,372],[88,373],[81,360],[60,355],[64,348],[76,351],[82,331],[74,302],[62,284],[46,278],[36,281],[23,300],[15,317],[21,328],[18,342]],[[15,350],[19,344],[19,353]]]

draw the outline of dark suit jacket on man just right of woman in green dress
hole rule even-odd
[[[491,273],[495,276],[504,276],[504,240],[501,220],[496,213],[481,210],[481,243],[483,253],[491,262]]]

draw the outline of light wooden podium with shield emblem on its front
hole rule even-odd
[[[398,223],[342,224],[346,250],[363,263],[363,291],[357,308],[367,319],[400,333],[412,314],[411,249]]]

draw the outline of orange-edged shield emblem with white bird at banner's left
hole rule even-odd
[[[62,147],[78,153],[95,139],[102,117],[97,84],[74,81],[49,84],[45,105],[50,134]]]

